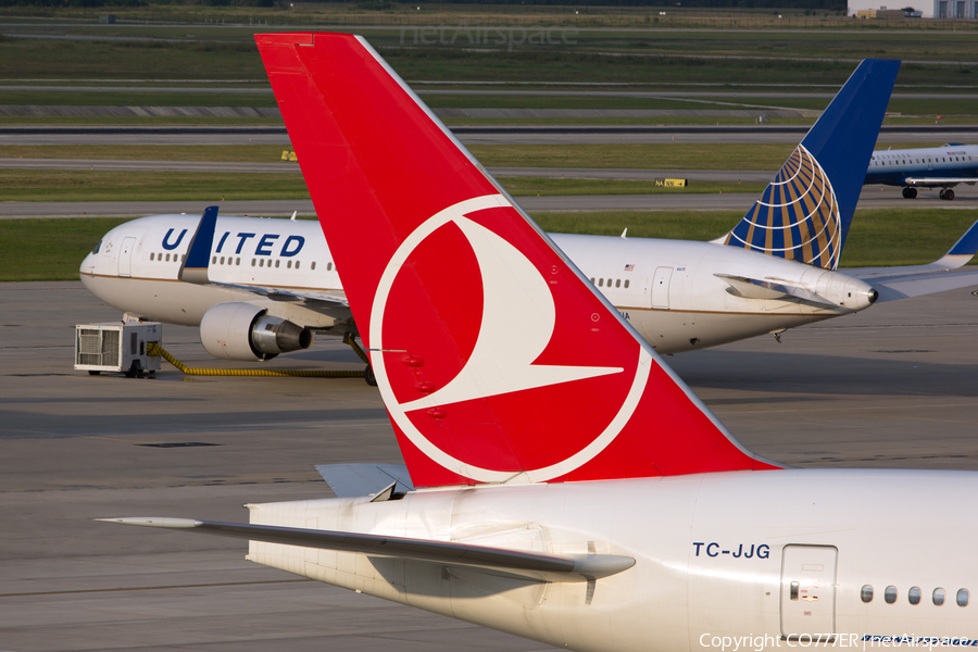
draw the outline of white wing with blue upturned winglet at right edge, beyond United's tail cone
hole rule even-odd
[[[954,243],[948,253],[926,265],[902,267],[855,267],[845,274],[869,284],[879,292],[881,301],[935,294],[978,285],[978,267],[965,269],[978,251],[978,222]]]

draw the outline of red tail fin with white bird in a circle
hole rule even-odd
[[[776,467],[363,38],[255,40],[415,486]]]

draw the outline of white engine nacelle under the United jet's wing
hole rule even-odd
[[[224,360],[272,360],[309,349],[312,330],[267,312],[252,303],[218,303],[200,321],[200,341],[208,353]]]

